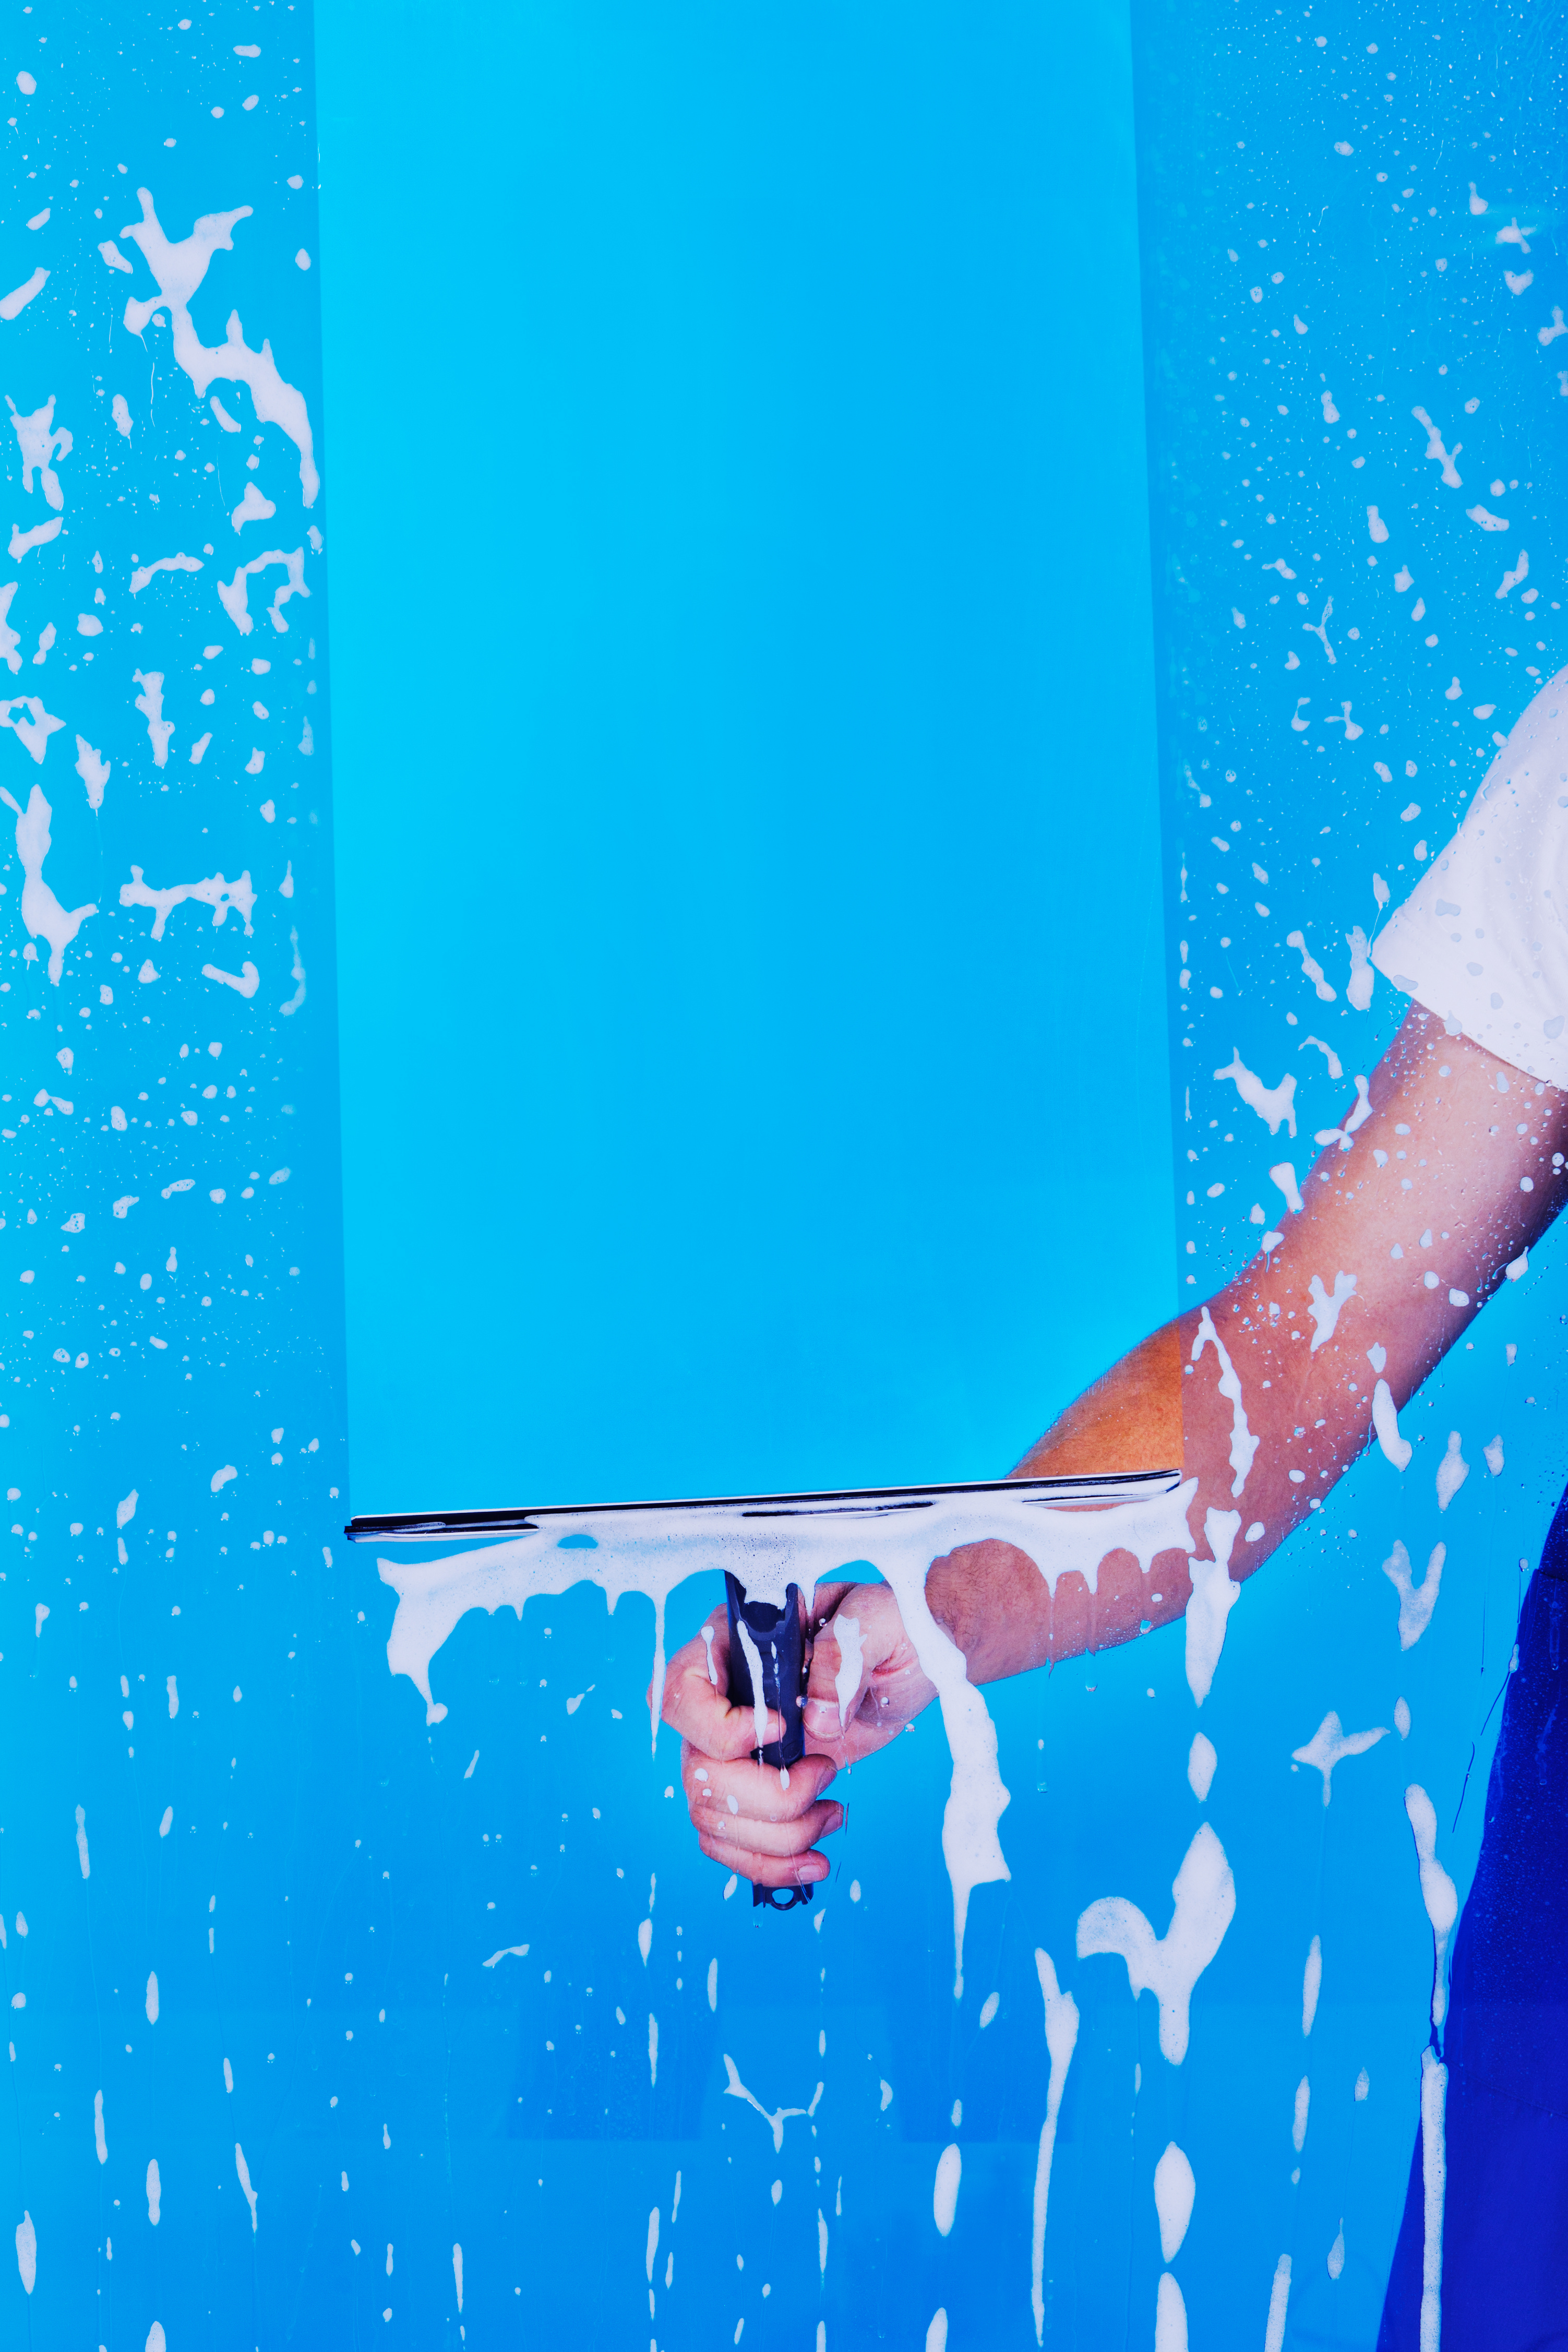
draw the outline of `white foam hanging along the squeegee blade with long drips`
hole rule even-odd
[[[216,969],[214,976],[226,978]],[[447,1708],[430,1693],[430,1661],[470,1609],[491,1616],[496,1609],[512,1609],[522,1616],[531,1595],[559,1595],[576,1583],[597,1583],[611,1611],[623,1592],[646,1592],[654,1602],[649,1712],[658,1738],[665,1604],[677,1583],[701,1571],[729,1569],[750,1599],[783,1609],[788,1585],[795,1583],[809,1609],[825,1576],[875,1552],[875,1564],[898,1599],[922,1672],[936,1686],[952,1755],[943,1858],[952,1879],[957,1999],[964,1992],[969,1898],[976,1886],[1009,1877],[997,1837],[1009,1792],[997,1769],[997,1729],[985,1700],[969,1682],[964,1653],[926,1604],[926,1569],[961,1543],[994,1536],[1037,1562],[1053,1597],[1070,1569],[1093,1592],[1100,1562],[1110,1552],[1131,1552],[1145,1576],[1161,1552],[1192,1552],[1187,1505],[1194,1494],[1197,1479],[1187,1479],[1161,1496],[1088,1510],[1037,1503],[1027,1494],[950,1496],[936,1505],[879,1512],[875,1524],[856,1519],[851,1526],[827,1515],[759,1519],[741,1508],[670,1505],[661,1512],[639,1512],[637,1524],[611,1534],[602,1512],[562,1512],[550,1519],[548,1534],[515,1536],[482,1550],[449,1552],[444,1559],[378,1559],[381,1581],[397,1592],[386,1656],[390,1670],[407,1675],[425,1700],[425,1722],[440,1724]],[[1239,1526],[1234,1512],[1211,1512],[1211,1517],[1234,1519]]]

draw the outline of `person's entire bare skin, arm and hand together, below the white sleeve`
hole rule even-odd
[[[1244,1526],[1262,1522],[1262,1534],[1237,1538],[1229,1573],[1246,1578],[1262,1566],[1373,1442],[1378,1374],[1368,1350],[1387,1350],[1382,1378],[1403,1406],[1568,1200],[1568,1096],[1554,1087],[1537,1094],[1521,1070],[1467,1037],[1448,1037],[1420,1007],[1410,1007],[1378,1063],[1371,1105],[1352,1150],[1331,1143],[1319,1155],[1300,1216],[1284,1216],[1279,1247],[1253,1258],[1206,1308],[1190,1308],[1112,1364],[1013,1477],[1180,1468],[1199,1482],[1187,1512],[1199,1552],[1208,1557],[1206,1512],[1241,1510]],[[1338,1272],[1354,1272],[1356,1289],[1333,1336],[1314,1348],[1312,1277],[1331,1296]],[[1436,1275],[1432,1287],[1427,1275]],[[1260,1439],[1244,1494],[1232,1461],[1232,1402],[1220,1395],[1206,1319],[1239,1374],[1246,1423]],[[1180,1550],[1161,1552],[1147,1576],[1131,1552],[1110,1552],[1095,1583],[1091,1592],[1067,1571],[1053,1599],[1027,1552],[971,1543],[931,1564],[926,1599],[964,1651],[969,1679],[994,1682],[1168,1625],[1192,1592]],[[835,1689],[839,1613],[860,1628],[863,1653],[844,1722]],[[665,1686],[698,1844],[762,1886],[820,1879],[830,1863],[818,1842],[844,1820],[842,1804],[825,1795],[830,1780],[886,1748],[936,1696],[898,1604],[886,1585],[818,1585],[809,1623],[811,1752],[790,1769],[788,1785],[750,1759],[752,1710],[724,1698],[722,1609],[710,1630],[719,1689],[708,1679],[701,1639],[675,1653]],[[778,1731],[771,1717],[769,1736]]]

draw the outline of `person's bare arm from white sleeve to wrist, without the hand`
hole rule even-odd
[[[1401,1406],[1568,1192],[1552,1167],[1568,1101],[1535,1096],[1427,1014],[1406,1018],[1371,1103],[1352,1150],[1331,1143],[1316,1160],[1284,1242],[1095,1381],[1018,1477],[1180,1468],[1197,1479],[1187,1524],[1199,1557],[1213,1557],[1208,1515],[1239,1515],[1237,1581],[1286,1541],[1371,1442],[1378,1378]],[[1519,1110],[1523,1122],[1509,1115]],[[1356,1287],[1333,1317],[1340,1275]],[[1368,1362],[1373,1345],[1382,1367]],[[1220,1390],[1225,1364],[1239,1402]],[[1220,1541],[1225,1531],[1222,1519]],[[1006,1543],[931,1566],[931,1609],[973,1682],[1133,1639],[1180,1616],[1192,1592],[1180,1550],[1157,1555],[1147,1573],[1110,1550],[1093,1590],[1067,1571],[1051,1592],[1041,1566]]]

